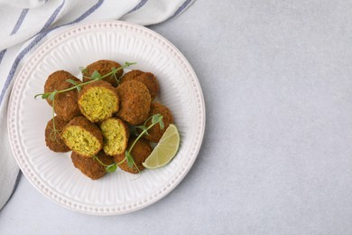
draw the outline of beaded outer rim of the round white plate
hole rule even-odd
[[[187,75],[187,78],[191,80],[191,84],[193,85],[193,90],[196,90],[199,92],[199,96],[197,96],[197,104],[199,105],[199,130],[196,135],[196,143],[192,143],[193,145],[196,145],[196,147],[193,150],[192,157],[190,160],[187,162],[187,165],[182,166],[181,171],[178,172],[178,177],[176,180],[173,180],[171,183],[168,183],[170,186],[163,188],[162,192],[153,192],[153,197],[149,199],[144,199],[144,202],[138,203],[137,205],[134,206],[123,206],[120,208],[121,210],[107,210],[104,211],[101,208],[98,209],[97,206],[91,206],[92,210],[87,210],[84,207],[81,207],[80,205],[76,204],[76,202],[71,202],[68,204],[66,199],[61,199],[60,195],[59,198],[56,196],[52,196],[53,193],[51,192],[52,187],[46,186],[46,189],[44,189],[45,185],[42,185],[41,182],[38,179],[35,179],[35,173],[32,173],[30,169],[28,169],[25,166],[25,160],[23,159],[23,156],[21,156],[21,149],[19,146],[22,144],[15,144],[17,142],[20,142],[21,137],[16,136],[14,133],[18,131],[19,124],[15,123],[16,118],[12,118],[12,114],[16,112],[15,104],[17,104],[21,100],[21,94],[18,94],[19,90],[24,87],[26,82],[28,80],[21,80],[21,76],[23,76],[24,71],[28,67],[31,66],[31,62],[35,61],[35,58],[38,57],[38,54],[42,54],[43,51],[50,50],[52,47],[55,46],[55,44],[60,43],[61,40],[66,39],[68,35],[75,35],[79,34],[77,32],[80,32],[80,30],[97,30],[100,29],[104,31],[104,29],[107,29],[107,27],[111,28],[121,28],[124,30],[132,30],[132,31],[137,31],[137,33],[145,33],[144,36],[150,38],[153,41],[157,41],[158,44],[161,44],[162,47],[167,47],[168,51],[172,53],[172,55],[175,57],[175,59],[180,62],[181,67],[185,70],[185,73]],[[48,45],[50,45],[48,48]],[[47,49],[45,50],[45,47]],[[31,71],[31,69],[29,69]],[[190,75],[190,76],[189,76]],[[189,173],[190,168],[194,164],[195,160],[198,157],[200,147],[203,142],[203,137],[204,137],[204,132],[205,132],[205,126],[206,126],[206,108],[205,108],[205,100],[203,96],[203,92],[201,89],[201,86],[199,84],[199,80],[197,78],[197,75],[193,68],[190,66],[190,62],[185,58],[185,56],[180,52],[180,50],[174,46],[170,41],[168,41],[166,38],[164,38],[161,34],[154,32],[151,29],[148,29],[142,25],[139,24],[133,24],[133,23],[128,23],[124,21],[116,21],[116,20],[108,20],[108,21],[96,21],[96,22],[89,22],[89,23],[84,23],[84,24],[77,24],[75,26],[69,27],[68,29],[52,36],[51,38],[48,38],[45,40],[45,42],[42,43],[28,58],[27,61],[24,62],[23,67],[21,70],[18,72],[18,74],[14,78],[14,86],[11,89],[11,95],[10,99],[8,102],[8,108],[7,108],[7,131],[9,135],[9,142],[10,146],[12,149],[13,156],[21,168],[24,176],[27,178],[27,180],[36,188],[40,193],[42,193],[44,196],[49,198],[51,202],[56,202],[60,206],[67,208],[71,211],[78,211],[81,213],[85,214],[90,214],[90,215],[118,215],[118,214],[124,214],[124,213],[129,213],[133,211],[138,211],[140,209],[143,209],[154,202],[158,202],[161,200],[163,197],[171,193],[173,189],[175,189],[183,180],[183,178],[186,176],[186,174]],[[23,146],[25,147],[25,146]],[[16,152],[18,151],[18,152]],[[173,178],[173,176],[172,176]],[[44,181],[45,183],[45,181]],[[45,192],[44,192],[45,191]],[[54,194],[55,195],[55,194]],[[156,196],[154,196],[156,195]],[[77,206],[76,206],[77,205]],[[115,209],[115,208],[114,208]]]

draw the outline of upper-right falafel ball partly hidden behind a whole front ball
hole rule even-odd
[[[138,70],[129,71],[122,77],[121,83],[124,83],[127,80],[138,80],[144,83],[144,85],[149,90],[152,99],[154,99],[159,92],[159,82],[156,80],[156,77],[152,72],[144,72]]]

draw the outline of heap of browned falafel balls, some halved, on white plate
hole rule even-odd
[[[120,67],[116,61],[93,62],[82,71],[83,80],[68,71],[55,71],[46,80],[44,93],[72,88],[91,80],[94,73],[104,77]],[[124,74],[120,70],[81,89],[57,93],[53,100],[47,98],[56,116],[45,128],[46,146],[54,152],[72,150],[74,166],[93,180],[107,174],[103,164],[116,163],[123,171],[138,174],[153,151],[151,142],[158,143],[173,123],[170,109],[153,101],[158,92],[159,83],[153,73],[133,70]],[[162,115],[164,128],[153,126],[148,135],[135,143],[130,153],[134,165],[130,167],[125,161],[125,151],[138,135],[130,129],[145,122],[148,127],[150,117],[155,114]]]

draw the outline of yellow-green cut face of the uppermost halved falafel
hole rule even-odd
[[[118,99],[109,89],[88,89],[79,99],[81,112],[90,121],[97,122],[112,117],[117,111]]]

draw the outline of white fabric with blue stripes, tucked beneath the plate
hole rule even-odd
[[[19,169],[7,134],[7,103],[23,63],[47,38],[98,20],[158,24],[181,14],[194,0],[0,0],[0,209],[14,191]]]

